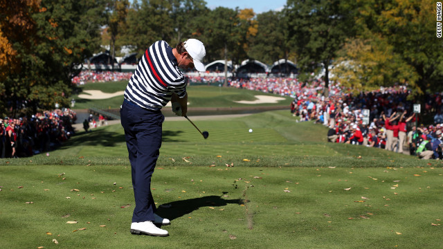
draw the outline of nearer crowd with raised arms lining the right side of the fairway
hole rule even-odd
[[[301,121],[313,120],[329,127],[329,142],[442,159],[442,95],[426,95],[428,104],[424,112],[435,113],[435,116],[433,124],[425,126],[413,110],[413,101],[407,100],[409,94],[403,86],[356,96],[308,98],[300,94],[291,103],[291,112],[293,116],[300,116]]]

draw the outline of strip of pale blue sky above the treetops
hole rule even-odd
[[[255,14],[260,14],[269,10],[282,10],[286,0],[205,0],[206,6],[213,10],[218,6],[239,9],[252,8]]]

